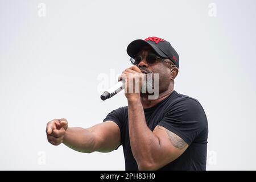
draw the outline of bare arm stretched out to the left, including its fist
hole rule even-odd
[[[120,144],[120,131],[116,123],[106,121],[88,129],[68,127],[66,119],[54,119],[47,123],[47,138],[53,145],[64,143],[79,152],[110,152]]]

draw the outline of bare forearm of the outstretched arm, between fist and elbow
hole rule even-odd
[[[63,143],[79,152],[90,153],[96,150],[95,135],[81,127],[68,127]]]

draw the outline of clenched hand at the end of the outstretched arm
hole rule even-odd
[[[48,142],[57,146],[63,142],[63,137],[68,129],[67,119],[53,119],[46,126]]]

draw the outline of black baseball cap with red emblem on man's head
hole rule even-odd
[[[150,36],[144,40],[134,40],[127,46],[127,53],[130,57],[133,57],[134,55],[137,55],[144,46],[151,46],[158,56],[170,59],[176,67],[179,68],[179,55],[171,46],[170,42],[157,38],[156,36]]]

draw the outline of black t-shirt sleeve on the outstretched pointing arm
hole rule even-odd
[[[121,134],[121,144],[122,144],[122,133],[123,133],[123,115],[125,112],[125,107],[119,107],[118,109],[115,109],[111,111],[105,119],[103,119],[103,122],[105,121],[113,121],[117,123],[120,134]]]

